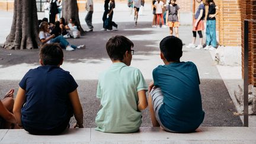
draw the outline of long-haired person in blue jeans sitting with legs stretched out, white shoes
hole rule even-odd
[[[81,47],[84,47],[84,45],[80,46],[74,46],[72,44],[69,44],[69,42],[63,37],[63,36],[57,36],[55,37],[55,34],[50,35],[48,23],[42,22],[39,28],[39,39],[41,43],[59,43],[62,49],[66,50],[75,50],[81,49]]]

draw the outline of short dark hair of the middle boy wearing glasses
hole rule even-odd
[[[126,51],[131,52],[133,42],[124,36],[111,37],[106,44],[108,56],[111,60],[123,60]]]

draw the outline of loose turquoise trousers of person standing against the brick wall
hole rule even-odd
[[[217,47],[216,41],[216,20],[206,21],[206,45]]]

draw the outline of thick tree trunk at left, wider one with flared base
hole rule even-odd
[[[36,0],[15,0],[5,49],[37,49],[40,44]]]

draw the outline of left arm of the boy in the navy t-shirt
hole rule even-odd
[[[23,107],[24,102],[25,102],[25,90],[19,87],[16,99],[14,102],[13,113],[14,113],[15,119],[17,120],[18,126],[20,127],[22,127],[21,108]]]

